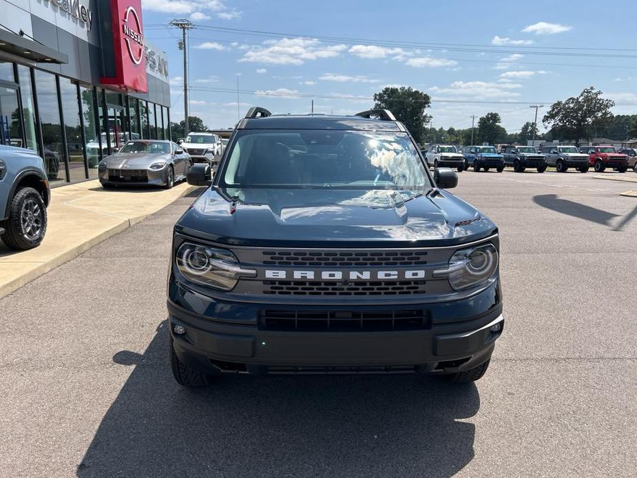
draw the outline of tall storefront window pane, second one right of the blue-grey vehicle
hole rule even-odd
[[[86,178],[84,169],[84,144],[80,126],[79,105],[77,102],[77,86],[69,79],[60,78],[60,94],[62,98],[62,116],[66,131],[66,145],[69,158],[70,180]]]

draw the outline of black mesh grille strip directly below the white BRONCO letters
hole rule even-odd
[[[426,280],[264,280],[263,293],[270,295],[409,295],[424,294]]]

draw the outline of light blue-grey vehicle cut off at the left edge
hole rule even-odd
[[[10,249],[40,245],[49,198],[44,160],[30,149],[0,145],[0,238]]]

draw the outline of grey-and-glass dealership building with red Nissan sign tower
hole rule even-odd
[[[168,63],[140,0],[0,0],[0,143],[52,186],[97,177],[129,138],[170,138]]]

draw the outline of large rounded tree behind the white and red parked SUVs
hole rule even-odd
[[[590,141],[594,134],[605,132],[613,120],[610,111],[615,102],[602,98],[602,92],[588,87],[579,96],[572,96],[565,101],[556,101],[542,118],[545,125],[550,125],[553,136],[574,141]]]

